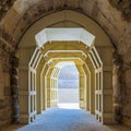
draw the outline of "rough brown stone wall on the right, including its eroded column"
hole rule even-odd
[[[124,67],[121,56],[114,52],[114,121],[131,123],[131,69]]]

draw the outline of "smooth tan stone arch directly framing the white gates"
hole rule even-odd
[[[62,20],[58,19],[60,15],[63,15]],[[67,15],[67,16],[66,16]],[[73,16],[73,17],[72,17]],[[53,21],[49,21],[50,19],[52,19]],[[64,24],[63,24],[64,23]],[[67,24],[66,24],[67,23]],[[88,24],[87,24],[88,23]],[[23,106],[23,102],[25,102],[25,99],[28,99],[27,96],[27,92],[28,92],[28,62],[29,59],[33,56],[33,52],[36,48],[36,41],[35,41],[35,35],[38,33],[38,31],[41,31],[41,28],[45,28],[47,26],[51,26],[51,27],[80,27],[83,26],[85,29],[90,31],[92,34],[95,35],[96,37],[96,43],[95,43],[95,47],[98,51],[98,55],[102,59],[102,61],[104,62],[104,78],[106,78],[104,81],[107,82],[106,80],[109,79],[110,80],[110,84],[108,84],[107,87],[105,87],[105,98],[111,98],[112,97],[112,90],[111,90],[111,71],[112,71],[112,64],[111,64],[111,60],[112,60],[112,46],[111,43],[108,38],[108,36],[104,33],[104,31],[94,22],[92,21],[90,17],[84,16],[83,14],[80,14],[78,12],[74,11],[62,11],[62,12],[57,12],[55,14],[50,14],[45,16],[44,19],[39,20],[37,23],[35,23],[23,36],[21,43],[20,43],[20,47],[19,47],[19,52],[20,52],[20,107]],[[95,28],[95,29],[94,29]],[[49,44],[50,45],[50,44]],[[52,47],[56,47],[57,44],[51,44]],[[50,46],[45,45],[45,47],[50,48]],[[86,47],[81,47],[81,48],[86,48]],[[38,51],[38,50],[36,50]],[[43,53],[45,51],[41,51]],[[39,57],[40,57],[40,53]],[[106,55],[109,57],[108,59],[105,57],[105,52]],[[24,58],[23,53],[26,55],[26,59]],[[88,53],[88,51],[86,51],[85,53]],[[95,56],[95,58],[93,58]],[[36,56],[35,56],[36,57]],[[37,59],[39,59],[39,57],[37,56]],[[90,53],[90,57],[92,58],[93,62],[95,62],[94,64],[97,67],[99,64],[99,62],[96,62],[98,60],[97,58],[97,53],[95,52],[95,50],[93,49],[93,51]],[[37,61],[37,60],[36,60]],[[100,70],[99,70],[100,71]],[[98,72],[98,71],[97,71]],[[35,72],[33,73],[33,76],[35,78]],[[98,78],[103,78],[103,74],[98,74]],[[93,75],[94,78],[95,75]],[[40,78],[39,78],[40,79]],[[23,83],[24,81],[24,83]],[[98,80],[99,82],[99,80]],[[107,82],[108,83],[108,82]],[[34,84],[35,85],[35,84]],[[95,85],[94,85],[95,86]],[[106,86],[106,83],[105,83]],[[110,88],[110,90],[109,90]],[[96,92],[96,96],[102,93],[102,92]],[[35,93],[33,93],[35,94]],[[21,97],[22,96],[22,97]],[[108,97],[109,96],[109,97]],[[100,99],[100,96],[97,96],[97,99]],[[106,104],[106,102],[104,102]],[[35,103],[34,103],[35,104]],[[91,103],[92,105],[92,103]],[[110,102],[110,105],[111,102]],[[28,107],[28,104],[26,104],[26,106]],[[29,110],[25,107],[21,108],[21,112],[20,112],[20,118],[21,118],[21,122],[28,122],[29,118],[28,115],[26,112],[28,112]],[[97,105],[96,105],[97,106]],[[90,106],[88,106],[90,107]],[[95,107],[95,105],[93,106]],[[98,106],[97,106],[98,107]],[[105,106],[106,107],[106,106]],[[100,108],[100,107],[98,107]],[[94,110],[94,109],[93,109]],[[111,110],[111,107],[110,109]],[[100,109],[100,111],[104,111]],[[108,112],[108,110],[105,110]],[[93,111],[94,112],[94,111]],[[34,112],[35,115],[36,112]],[[99,114],[97,111],[98,116],[102,116],[102,114]],[[97,119],[99,119],[99,121],[103,121],[100,117],[96,116]],[[110,118],[109,118],[110,117]],[[110,120],[106,120],[105,119],[105,123],[108,123],[109,121],[111,121],[112,115],[110,114],[105,114],[105,118],[109,118]]]

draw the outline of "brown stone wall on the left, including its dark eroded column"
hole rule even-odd
[[[19,59],[0,39],[0,127],[19,121]]]

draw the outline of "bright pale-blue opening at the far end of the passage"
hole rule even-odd
[[[58,76],[58,107],[79,109],[79,71],[73,62],[63,66]]]

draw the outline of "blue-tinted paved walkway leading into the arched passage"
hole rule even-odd
[[[50,108],[17,131],[110,131],[82,109]]]

